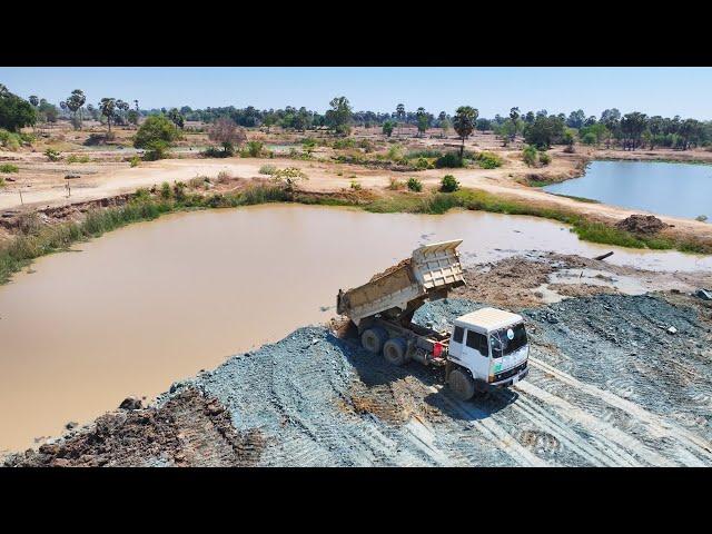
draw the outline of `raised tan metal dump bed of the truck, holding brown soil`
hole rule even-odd
[[[363,286],[339,290],[336,309],[358,325],[380,314],[404,324],[427,299],[443,298],[449,289],[463,286],[457,247],[462,239],[435,243],[413,250],[411,258],[375,275]]]

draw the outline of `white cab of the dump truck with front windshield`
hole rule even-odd
[[[454,322],[448,357],[467,369],[475,382],[493,386],[516,384],[528,374],[528,352],[521,315],[482,308]]]

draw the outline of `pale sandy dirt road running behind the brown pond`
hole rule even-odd
[[[530,172],[523,161],[514,156],[506,157],[506,165],[497,169],[432,169],[417,172],[418,178],[429,187],[436,187],[443,176],[454,175],[464,187],[483,189],[485,191],[525,200],[534,205],[550,206],[574,210],[593,219],[614,224],[641,210],[624,209],[602,204],[581,202],[571,198],[547,194],[543,190],[523,186],[515,181],[514,177]],[[51,164],[32,164],[38,169]],[[103,165],[103,164],[102,164]],[[82,174],[81,165],[66,166],[67,168],[53,168],[55,178],[36,184],[32,188],[22,188],[22,201],[36,207],[61,206],[72,202],[86,201],[111,197],[122,192],[135,191],[139,187],[151,187],[164,181],[187,181],[197,176],[215,178],[219,172],[227,172],[237,178],[251,179],[260,177],[259,168],[263,165],[278,167],[293,166],[304,170],[308,181],[303,185],[305,190],[336,191],[348,189],[352,180],[358,181],[363,188],[376,190],[385,189],[392,178],[404,180],[413,172],[396,172],[380,169],[366,169],[355,165],[334,162],[301,161],[293,159],[170,159],[154,162],[144,162],[139,167],[129,168],[128,164],[112,164],[108,170],[105,167],[97,168],[89,164],[86,174]],[[34,167],[33,167],[34,168]],[[77,172],[80,178],[63,179],[63,171]],[[552,176],[562,174],[575,174],[573,159],[554,158],[553,164],[545,171]],[[264,178],[264,176],[263,176]],[[71,197],[67,197],[65,184],[71,186]],[[0,211],[17,209],[20,207],[20,182],[13,182],[0,191]],[[679,217],[660,216],[668,225],[673,225],[675,233],[694,235],[702,240],[712,239],[712,225],[699,222]]]

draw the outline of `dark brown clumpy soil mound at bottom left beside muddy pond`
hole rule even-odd
[[[89,429],[14,456],[9,466],[249,466],[259,461],[258,429],[238,433],[216,398],[186,389],[165,405],[119,409]]]

